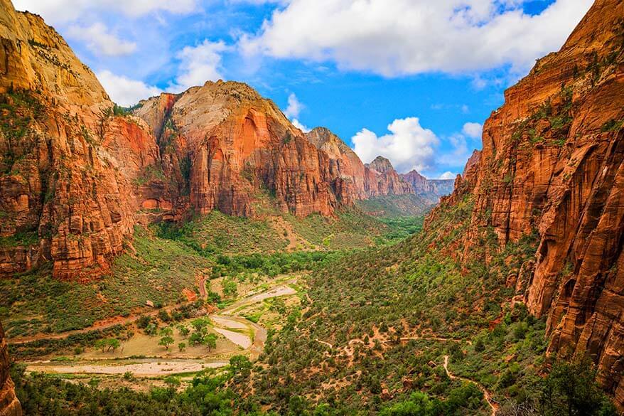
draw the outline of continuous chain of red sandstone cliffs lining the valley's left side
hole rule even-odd
[[[328,130],[306,137],[238,82],[124,114],[41,17],[0,1],[0,275],[52,262],[55,277],[91,279],[154,217],[254,215],[267,196],[284,212],[333,215],[412,192]]]

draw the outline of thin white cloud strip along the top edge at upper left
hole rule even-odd
[[[197,0],[14,0],[17,10],[41,14],[46,23],[75,21],[87,11],[116,11],[139,17],[156,11],[189,14],[198,11]]]

